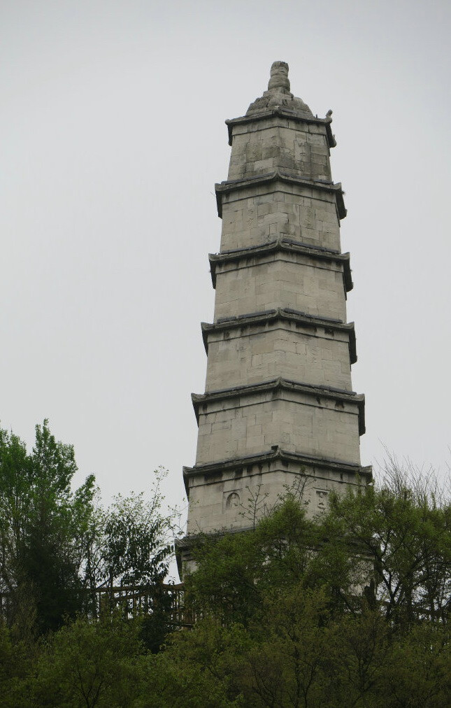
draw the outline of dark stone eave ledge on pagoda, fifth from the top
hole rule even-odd
[[[208,404],[212,401],[224,401],[227,399],[239,398],[240,396],[253,396],[259,393],[276,391],[295,391],[307,396],[315,396],[316,399],[323,396],[324,398],[332,399],[333,401],[341,401],[341,403],[352,403],[358,406],[358,426],[359,435],[365,433],[365,395],[356,394],[354,391],[345,391],[344,389],[336,389],[329,386],[313,386],[312,384],[304,384],[298,381],[290,381],[278,377],[262,382],[261,384],[251,384],[247,386],[235,386],[229,389],[218,389],[205,394],[191,394],[193,408],[196,420],[199,423],[199,407],[202,404]]]

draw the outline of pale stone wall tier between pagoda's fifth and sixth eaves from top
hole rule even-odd
[[[196,464],[256,455],[273,445],[360,462],[359,411],[353,401],[268,390],[241,392],[200,407]]]

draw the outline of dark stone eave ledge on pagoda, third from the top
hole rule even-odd
[[[216,266],[219,263],[234,263],[234,261],[242,261],[244,258],[263,258],[268,253],[299,253],[302,256],[316,258],[318,261],[334,261],[335,263],[343,264],[343,284],[346,292],[353,289],[353,278],[350,271],[350,256],[349,253],[339,253],[332,249],[324,249],[321,247],[310,246],[292,239],[277,239],[270,241],[268,244],[260,244],[258,246],[247,246],[245,249],[234,249],[233,251],[222,251],[222,253],[209,253],[208,260],[210,261],[210,273],[212,276],[213,287],[216,287]]]

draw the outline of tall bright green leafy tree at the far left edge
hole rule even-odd
[[[34,607],[40,632],[81,607],[84,535],[93,513],[94,478],[72,491],[74,448],[57,442],[48,421],[36,426],[30,455],[0,432],[0,582],[11,619]]]

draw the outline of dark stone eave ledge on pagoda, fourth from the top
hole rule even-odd
[[[215,323],[201,322],[202,339],[205,346],[205,352],[208,354],[208,334],[210,332],[223,332],[230,329],[238,329],[246,326],[265,326],[273,321],[289,321],[300,324],[304,327],[324,327],[324,329],[346,332],[349,336],[349,356],[351,364],[357,361],[357,353],[355,350],[355,329],[354,323],[345,323],[341,320],[330,319],[329,317],[314,317],[306,312],[298,312],[290,308],[278,307],[265,312],[251,312],[236,317],[222,318]]]

